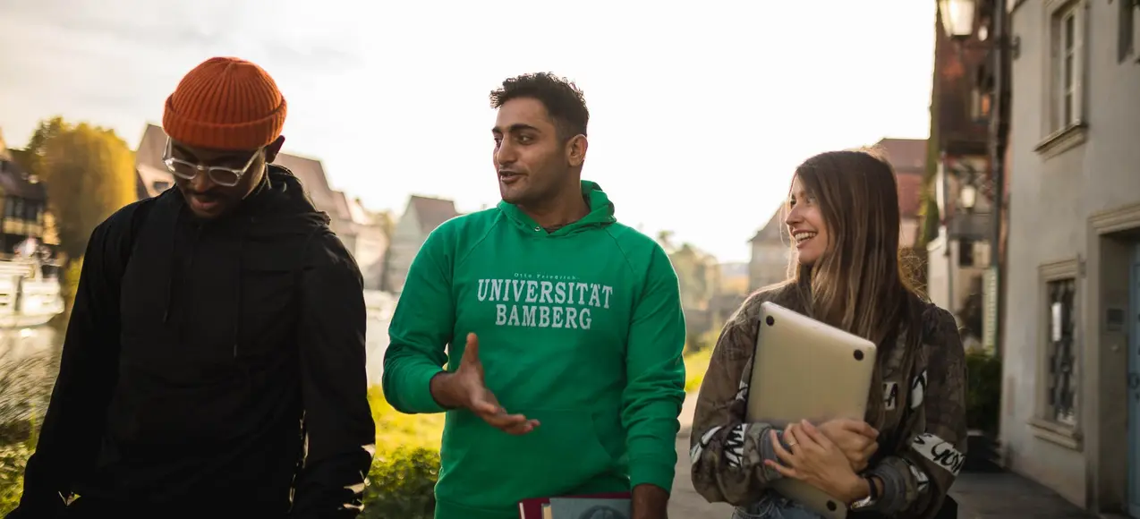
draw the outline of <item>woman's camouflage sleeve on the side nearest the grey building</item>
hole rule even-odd
[[[887,517],[931,518],[942,506],[966,462],[966,352],[954,317],[940,308],[927,314],[922,338],[926,359],[917,366],[898,454],[870,473],[882,479],[876,509]]]

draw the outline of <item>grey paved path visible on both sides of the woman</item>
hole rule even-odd
[[[669,519],[728,519],[732,506],[711,504],[693,489],[689,477],[689,437],[697,395],[690,394],[681,411],[677,435],[677,475],[669,498]],[[950,490],[958,501],[959,519],[1093,519],[1097,516],[1065,501],[1057,493],[1011,472],[963,472]]]

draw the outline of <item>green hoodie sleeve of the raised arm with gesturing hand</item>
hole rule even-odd
[[[446,411],[431,395],[431,379],[447,364],[455,329],[451,299],[454,241],[448,226],[432,232],[416,253],[388,327],[384,398],[401,413]]]

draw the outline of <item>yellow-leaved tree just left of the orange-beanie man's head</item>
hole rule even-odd
[[[82,256],[95,226],[136,200],[135,153],[113,130],[57,116],[40,123],[18,160],[47,186],[68,258]]]

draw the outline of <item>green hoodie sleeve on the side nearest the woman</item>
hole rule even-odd
[[[684,346],[677,274],[665,251],[656,248],[626,349],[622,423],[628,435],[630,487],[650,484],[671,492],[677,417],[685,400]]]

